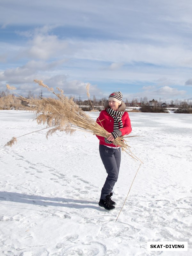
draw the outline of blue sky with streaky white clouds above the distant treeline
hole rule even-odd
[[[191,0],[1,0],[0,91],[192,100]],[[43,90],[44,96],[48,96]]]

